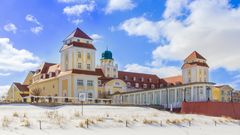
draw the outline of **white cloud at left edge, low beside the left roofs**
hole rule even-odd
[[[28,50],[13,47],[8,38],[0,38],[0,73],[31,70],[39,66],[40,60]]]

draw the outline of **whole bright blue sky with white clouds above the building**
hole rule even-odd
[[[1,0],[0,93],[44,61],[59,62],[76,27],[108,47],[120,70],[181,74],[196,50],[210,80],[240,89],[239,0]],[[97,61],[98,62],[98,61]]]

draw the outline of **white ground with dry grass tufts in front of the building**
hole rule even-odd
[[[0,105],[0,135],[240,135],[240,121],[224,117],[140,107],[89,105],[83,111],[72,105]]]

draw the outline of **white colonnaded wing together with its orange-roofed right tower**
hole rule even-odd
[[[160,88],[157,89],[115,94],[112,96],[113,103],[178,108],[183,101],[211,100],[214,83],[208,81],[208,68],[206,59],[194,51],[184,60],[181,78],[160,79]]]

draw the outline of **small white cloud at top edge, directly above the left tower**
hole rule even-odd
[[[95,8],[95,2],[90,1],[85,4],[76,4],[74,6],[67,6],[63,9],[63,13],[69,16],[80,16],[84,12],[91,12]]]

